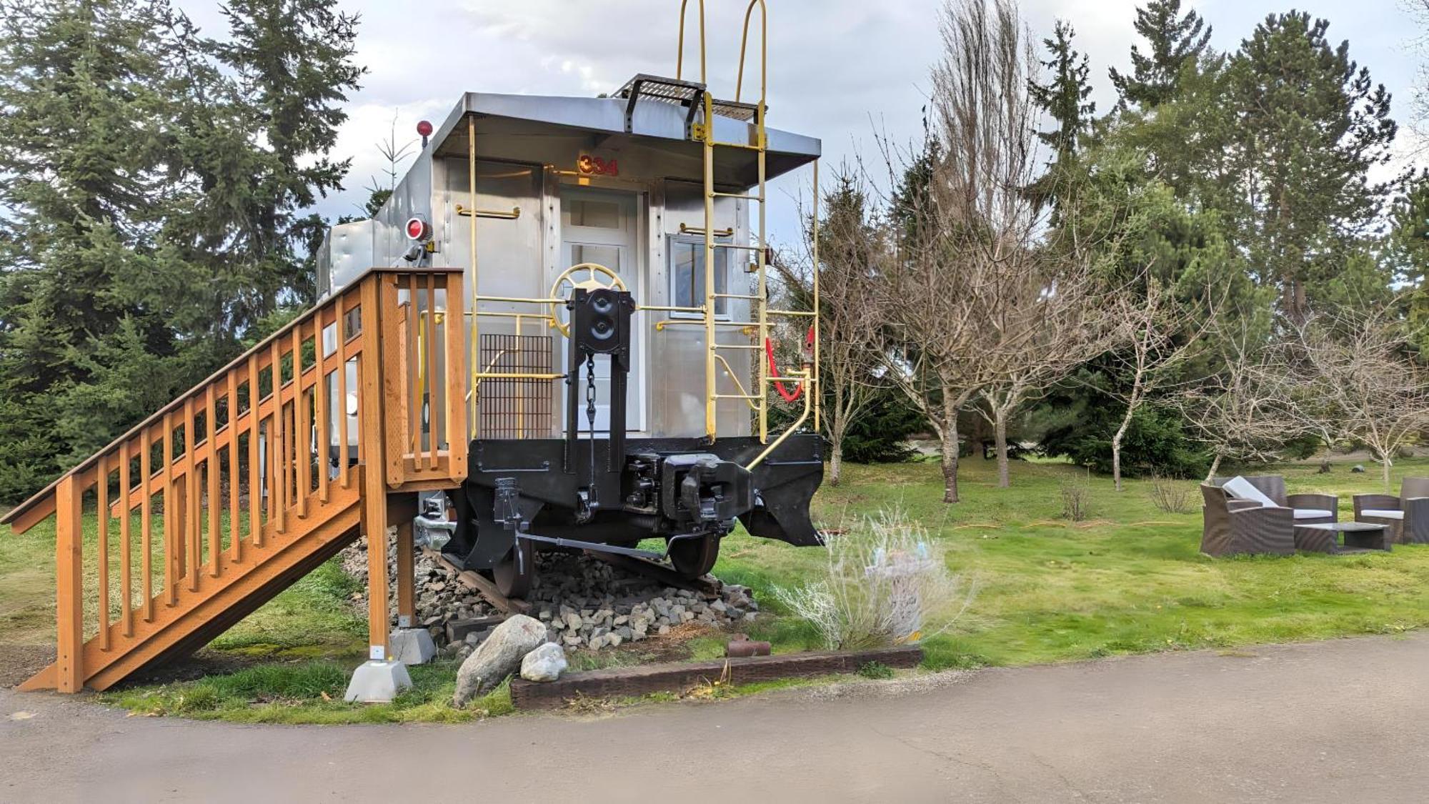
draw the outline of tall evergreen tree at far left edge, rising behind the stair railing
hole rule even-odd
[[[163,0],[0,3],[0,498],[43,485],[114,435],[74,389],[103,345],[151,358],[150,388],[183,373],[150,275],[169,110]],[[107,399],[126,422],[147,413]]]

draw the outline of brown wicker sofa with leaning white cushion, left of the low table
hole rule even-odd
[[[1336,522],[1339,498],[1328,494],[1286,494],[1280,475],[1252,475],[1243,478],[1268,498],[1243,499],[1222,488],[1232,478],[1212,478],[1200,485],[1205,502],[1200,532],[1200,552],[1233,555],[1295,552],[1295,526]]]

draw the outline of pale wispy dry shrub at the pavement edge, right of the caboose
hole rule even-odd
[[[835,651],[890,648],[946,631],[972,602],[943,546],[903,511],[883,511],[825,539],[822,577],[775,588]]]

